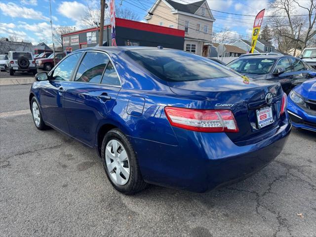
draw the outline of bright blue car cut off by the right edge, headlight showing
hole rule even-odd
[[[316,78],[293,88],[288,95],[287,111],[293,126],[316,132]]]

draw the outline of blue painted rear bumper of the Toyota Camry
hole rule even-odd
[[[180,190],[206,192],[244,179],[269,164],[282,151],[291,122],[286,113],[284,122],[270,131],[268,139],[246,146],[237,146],[226,133],[174,129],[178,146],[130,137],[144,180]],[[186,133],[191,133],[190,137]]]

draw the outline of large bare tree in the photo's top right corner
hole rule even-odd
[[[316,35],[316,5],[315,0],[309,0],[302,5],[298,0],[276,0],[271,2],[274,17],[269,18],[268,25],[273,29],[273,41],[279,50],[288,52],[295,47],[296,40],[300,48],[305,48]],[[306,16],[297,12],[305,12]],[[308,23],[308,24],[306,24]],[[300,25],[303,25],[300,39],[297,39]]]

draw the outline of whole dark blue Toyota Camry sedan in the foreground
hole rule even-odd
[[[205,192],[244,179],[276,158],[291,130],[280,84],[180,50],[85,48],[36,80],[35,126],[96,148],[125,194],[148,183]]]

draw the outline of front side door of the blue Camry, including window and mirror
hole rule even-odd
[[[44,82],[40,90],[40,105],[44,121],[66,133],[69,133],[69,129],[64,111],[65,92],[80,56],[81,52],[65,58],[49,74],[49,80]]]

